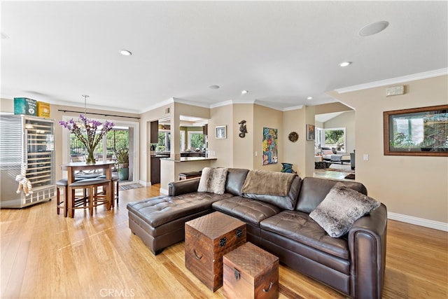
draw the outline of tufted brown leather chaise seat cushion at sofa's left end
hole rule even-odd
[[[211,209],[211,204],[233,195],[224,193],[195,192],[178,196],[151,197],[139,202],[130,202],[127,209],[132,211],[146,223],[156,228],[190,214]]]

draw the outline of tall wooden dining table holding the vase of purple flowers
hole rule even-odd
[[[112,183],[112,169],[116,162],[113,161],[97,161],[94,164],[87,164],[86,162],[70,162],[61,165],[61,169],[67,172],[67,207],[71,207],[74,200],[74,194],[72,188],[70,188],[71,183],[75,182],[76,172],[86,172],[92,170],[102,170],[102,174],[106,175],[106,179],[109,179],[109,190],[107,190],[106,195],[108,197],[108,204],[106,209],[111,209],[112,199],[113,199],[113,183]],[[99,174],[100,175],[100,174]],[[69,208],[69,217],[73,218],[73,209]]]

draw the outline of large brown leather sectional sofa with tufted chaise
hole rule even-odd
[[[346,235],[334,238],[309,213],[339,181],[296,176],[286,196],[243,195],[247,174],[248,169],[228,169],[223,195],[197,192],[200,178],[169,183],[169,195],[127,205],[130,229],[158,254],[184,239],[186,221],[221,211],[246,222],[247,241],[278,256],[281,263],[352,298],[381,298],[386,263],[384,204],[359,218]],[[343,183],[367,194],[362,183]]]

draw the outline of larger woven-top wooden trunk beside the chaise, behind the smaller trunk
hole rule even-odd
[[[214,212],[185,223],[185,265],[211,291],[223,285],[223,255],[246,243],[246,223]]]

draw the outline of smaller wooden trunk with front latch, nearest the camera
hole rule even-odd
[[[279,258],[247,242],[223,256],[226,298],[279,298]]]

